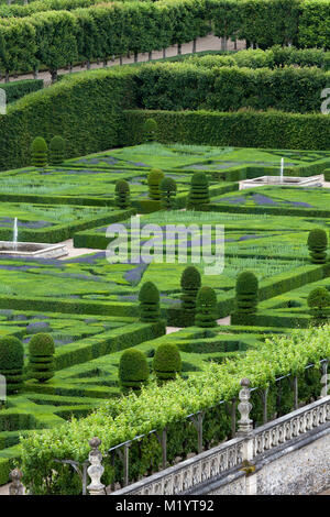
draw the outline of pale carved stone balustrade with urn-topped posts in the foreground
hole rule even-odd
[[[302,439],[304,437],[312,438],[312,435],[318,430],[328,432],[328,427],[330,431],[330,396],[327,395],[328,361],[322,361],[322,364],[321,382],[323,386],[321,397],[318,400],[255,429],[253,429],[253,421],[250,419],[252,389],[250,381],[243,378],[238,405],[241,418],[238,421],[239,428],[235,438],[116,492],[107,491],[101,482],[105,472],[102,454],[99,451],[101,440],[92,438],[89,441],[91,452],[88,461],[82,465],[84,472],[80,472],[80,477],[82,481],[85,480],[82,493],[86,493],[87,488],[90,495],[105,495],[109,492],[110,495],[194,494],[202,486],[222,480],[227,475],[235,475],[240,470],[245,473],[251,472],[251,469],[253,471],[255,462],[264,458],[267,452],[276,452],[280,447],[289,448],[300,437]],[[76,462],[72,463],[75,463],[72,466],[77,471],[79,465],[76,465]],[[91,483],[86,487],[87,474]],[[23,494],[22,475],[18,470],[12,472],[13,483],[10,493]],[[250,484],[252,477],[250,476]]]

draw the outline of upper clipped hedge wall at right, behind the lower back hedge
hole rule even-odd
[[[143,109],[235,111],[249,107],[308,113],[320,111],[330,73],[294,66],[271,70],[158,63],[140,67],[136,82]]]

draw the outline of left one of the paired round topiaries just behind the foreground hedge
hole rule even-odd
[[[119,381],[123,389],[140,389],[148,380],[147,361],[143,352],[127,349],[120,358]]]

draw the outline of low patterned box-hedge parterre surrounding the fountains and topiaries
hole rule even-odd
[[[329,168],[328,152],[153,142],[67,160],[56,167],[26,167],[1,175],[0,235],[11,238],[12,218],[18,217],[19,240],[40,237],[40,240],[57,242],[73,237],[76,248],[90,249],[90,253],[66,260],[0,258],[0,338],[15,337],[24,346],[24,387],[16,395],[10,395],[0,409],[0,484],[8,481],[11,466],[22,460],[28,483],[34,485],[35,493],[43,492],[42,480],[34,475],[33,450],[38,440],[42,443],[46,436],[61,435],[65,429],[62,425],[68,421],[73,443],[76,440],[80,442],[73,430],[79,429],[80,424],[72,417],[80,419],[81,429],[84,417],[94,410],[101,411],[95,415],[105,411],[105,418],[108,418],[109,406],[103,407],[106,400],[110,406],[123,405],[124,415],[124,405],[129,403],[127,397],[122,397],[123,388],[118,376],[124,350],[133,348],[145,358],[150,382],[143,389],[151,393],[156,383],[154,356],[161,344],[176,345],[180,354],[182,380],[173,383],[198,384],[198,380],[209,376],[219,365],[229,369],[230,373],[226,374],[229,375],[228,383],[233,378],[231,369],[235,369],[235,362],[242,370],[245,361],[249,364],[249,358],[268,354],[266,350],[273,346],[270,339],[284,337],[294,340],[290,337],[295,336],[295,328],[319,326],[320,321],[308,306],[308,297],[317,287],[330,292],[330,266],[328,257],[321,263],[311,263],[307,242],[312,230],[329,234],[329,191],[326,188],[288,187],[239,190],[241,179],[279,174],[282,156],[285,157],[286,174],[308,176]],[[157,185],[152,185],[152,188],[148,185],[148,175],[155,169],[175,182],[173,209],[165,209],[167,207],[164,208],[160,200],[151,199],[160,194],[156,193]],[[191,201],[188,197],[191,178],[196,178],[196,174],[202,176],[205,199],[209,196],[210,202],[191,210],[186,206]],[[162,174],[154,176],[161,177]],[[128,207],[120,209],[116,186],[123,179],[129,185],[130,196],[125,201]],[[274,211],[270,211],[270,207]],[[106,237],[108,226],[112,222],[122,224],[128,232],[130,251],[130,218],[136,215],[141,227],[157,223],[163,230],[167,224],[224,226],[223,273],[207,276],[204,262],[195,266],[201,285],[215,290],[213,319],[231,316],[231,324],[226,320],[216,327],[201,328],[196,326],[198,319],[195,320],[194,310],[189,312],[183,307],[180,279],[187,263],[193,262],[195,245],[190,234],[178,233],[172,242],[176,244],[177,240],[187,239],[187,263],[179,262],[180,246],[176,248],[173,264],[134,263],[130,258],[118,264],[107,261],[106,249],[113,239]],[[211,238],[215,252],[215,231]],[[141,246],[144,245],[152,245],[152,237],[141,240]],[[258,305],[256,312],[248,315],[242,324],[237,316],[235,285],[238,275],[246,270],[257,278]],[[141,321],[139,309],[139,293],[145,283],[153,283],[160,290],[161,320],[152,323]],[[165,334],[165,324],[178,330]],[[31,337],[40,332],[51,334],[55,342],[54,375],[47,382],[33,378],[29,366],[29,343]],[[314,393],[316,383],[312,378],[310,393],[306,395],[304,392],[305,399]],[[233,395],[235,381],[229,385]],[[160,398],[162,393],[170,392],[170,386],[167,383],[157,389],[164,389],[157,392]],[[144,396],[141,395],[141,400]],[[139,404],[139,396],[135,398]],[[290,407],[289,396],[285,405]],[[256,413],[257,407],[256,402]],[[177,417],[173,416],[179,420],[183,413]],[[260,413],[256,419],[261,419]],[[226,438],[227,416],[215,414],[207,421],[206,443],[213,443],[210,438],[212,429],[219,439]],[[147,431],[147,424],[143,429]],[[173,429],[178,437],[184,437],[187,431],[183,433],[177,425]],[[130,425],[124,426],[120,433],[117,430],[113,433],[116,442],[106,439],[105,443],[109,447],[117,444],[119,436],[121,441],[133,438],[130,432]],[[185,457],[194,451],[195,435],[187,432],[184,452],[178,438],[170,446],[170,458]],[[24,437],[23,449],[20,437]],[[85,446],[79,448],[79,454],[70,453],[67,446],[56,451],[55,446],[50,447],[54,458],[69,454],[81,460]],[[43,457],[43,446],[41,450],[41,472],[45,472],[51,464],[50,457]],[[152,450],[157,458],[157,446]],[[135,458],[140,453],[133,450],[132,454]],[[132,480],[145,472],[145,464],[148,464],[145,461],[144,455],[143,460],[136,460]],[[107,470],[107,479],[120,482],[120,462],[116,461],[114,471],[110,471]],[[58,472],[63,491],[68,472],[62,469]],[[56,493],[56,483],[54,480],[51,482],[50,493]],[[76,481],[69,484],[68,492],[78,493],[78,484]]]

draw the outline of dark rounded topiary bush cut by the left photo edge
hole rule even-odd
[[[0,339],[0,375],[6,377],[7,393],[16,393],[23,386],[24,349],[18,338]]]

